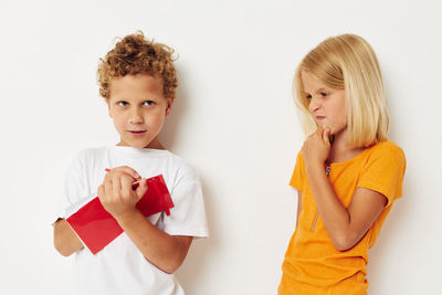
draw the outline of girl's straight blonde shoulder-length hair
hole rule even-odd
[[[302,72],[308,72],[323,84],[346,93],[348,145],[369,147],[387,140],[389,116],[386,91],[378,59],[370,44],[355,34],[328,38],[313,49],[298,65],[293,93],[306,135],[317,124],[308,110]]]

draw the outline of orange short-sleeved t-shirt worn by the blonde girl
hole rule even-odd
[[[328,179],[347,208],[356,188],[368,188],[387,197],[388,203],[364,238],[340,252],[332,243],[317,207],[302,154],[297,155],[290,185],[302,192],[302,211],[283,262],[280,295],[367,294],[368,249],[379,234],[393,201],[402,194],[406,157],[392,141],[381,141],[355,158],[330,165]]]

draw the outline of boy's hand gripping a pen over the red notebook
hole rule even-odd
[[[137,211],[136,203],[147,191],[146,179],[129,167],[112,169],[103,183],[98,187],[98,198],[104,209],[115,219],[124,218]],[[133,183],[139,180],[139,186],[134,190]]]

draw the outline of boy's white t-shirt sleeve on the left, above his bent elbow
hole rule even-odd
[[[65,173],[63,193],[59,201],[55,220],[67,218],[72,208],[83,202],[85,198],[90,198],[90,194],[91,191],[85,170],[85,154],[80,152]]]

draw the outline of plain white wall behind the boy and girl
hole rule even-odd
[[[114,38],[143,30],[179,53],[161,135],[201,173],[211,236],[178,276],[188,294],[275,294],[295,225],[287,186],[303,143],[294,69],[323,39],[366,38],[385,74],[404,196],[370,251],[369,294],[440,289],[439,1],[1,1],[0,294],[72,294],[52,246],[67,165],[118,137],[95,72]]]

